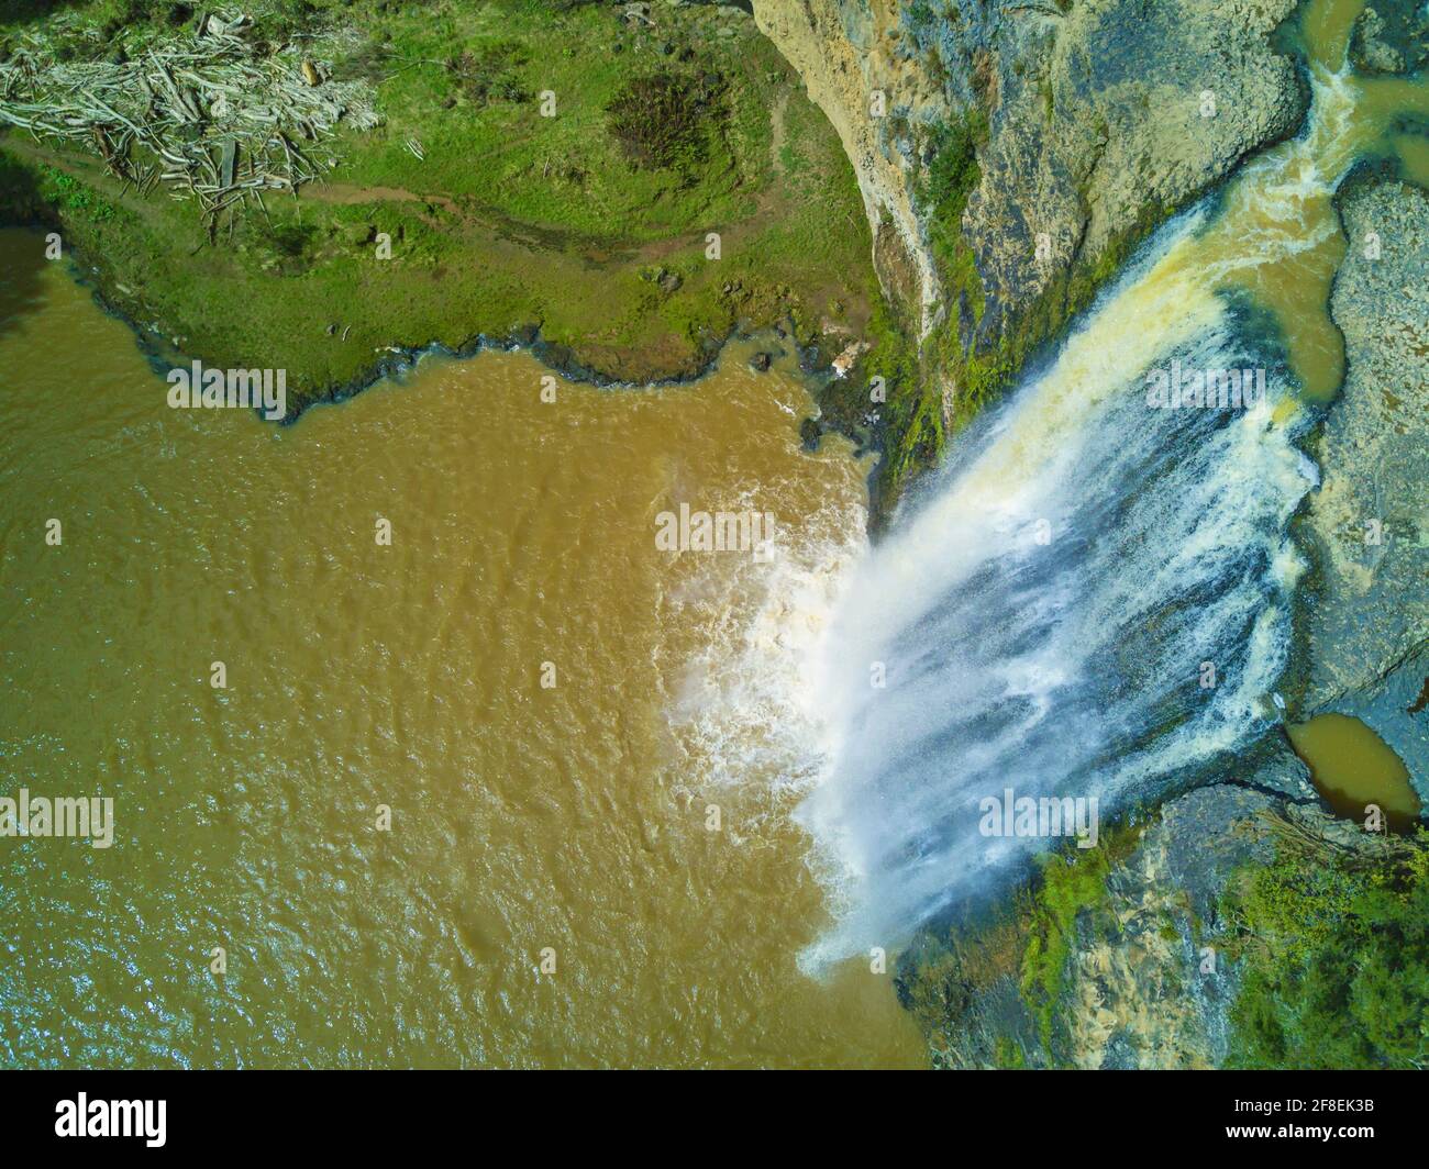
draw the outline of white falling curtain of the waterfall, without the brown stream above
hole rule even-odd
[[[836,767],[805,807],[857,886],[826,953],[892,946],[1049,846],[982,836],[983,797],[1109,812],[1272,713],[1313,467],[1272,422],[1280,373],[1250,410],[1149,409],[1145,372],[1175,359],[1262,363],[1222,303],[1133,272],[850,586],[825,647]]]

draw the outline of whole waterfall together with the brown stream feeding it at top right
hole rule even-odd
[[[1422,79],[1353,76],[1359,7],[1306,9],[1300,137],[1169,223],[849,584],[822,647],[832,762],[800,809],[843,912],[810,965],[897,945],[1056,843],[985,835],[985,799],[1106,816],[1276,717],[1288,522],[1316,482],[1298,402],[1343,373],[1332,196],[1429,111]],[[1167,409],[1149,392],[1177,369],[1265,370],[1266,394]]]

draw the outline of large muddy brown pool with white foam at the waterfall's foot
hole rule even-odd
[[[109,849],[0,839],[0,1063],[925,1062],[889,975],[796,966],[800,672],[866,506],[796,377],[427,360],[284,429],[169,409],[0,247],[0,796],[116,802]],[[682,502],[773,556],[659,552]]]

